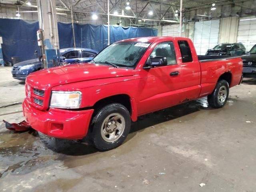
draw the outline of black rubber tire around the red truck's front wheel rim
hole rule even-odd
[[[111,116],[111,114],[119,114],[120,117],[122,116],[122,122],[124,124],[124,128],[120,136],[118,135],[118,127],[116,126],[116,132],[114,133],[114,129],[112,129],[112,135],[114,134],[114,137],[118,137],[117,140],[115,141],[106,141],[108,140],[107,135],[102,136],[102,130],[110,129],[110,128],[105,128],[108,126],[108,123],[110,123],[112,118],[109,118],[108,123],[106,123],[106,119],[108,116]],[[118,123],[118,120],[114,120],[115,124]],[[104,125],[105,126],[104,126]],[[110,123],[111,124],[111,123]],[[102,129],[102,126],[104,127]],[[113,125],[113,128],[115,125]],[[89,134],[89,139],[92,142],[92,144],[100,151],[108,151],[111,149],[114,149],[118,146],[120,146],[126,137],[128,136],[130,132],[130,127],[131,127],[131,117],[129,111],[126,109],[125,106],[119,103],[112,103],[104,106],[103,108],[97,110],[92,118],[91,124],[90,124],[90,134]],[[108,130],[109,131],[109,130]],[[110,129],[111,131],[111,129]],[[104,138],[103,138],[104,137]],[[109,134],[109,139],[110,139],[110,134]]]

